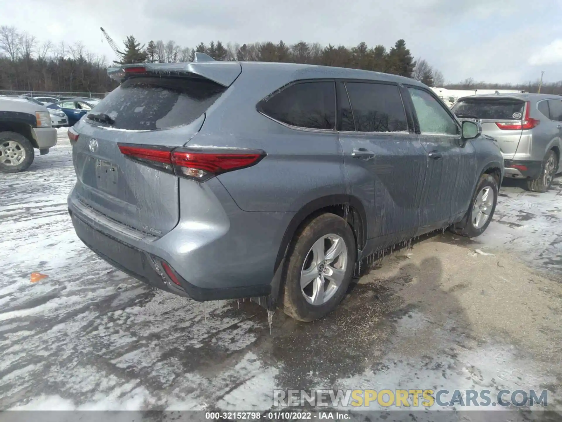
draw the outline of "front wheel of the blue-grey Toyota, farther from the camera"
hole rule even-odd
[[[459,223],[451,227],[451,231],[465,237],[477,237],[486,231],[496,210],[497,192],[496,178],[490,174],[482,174],[468,212]]]

